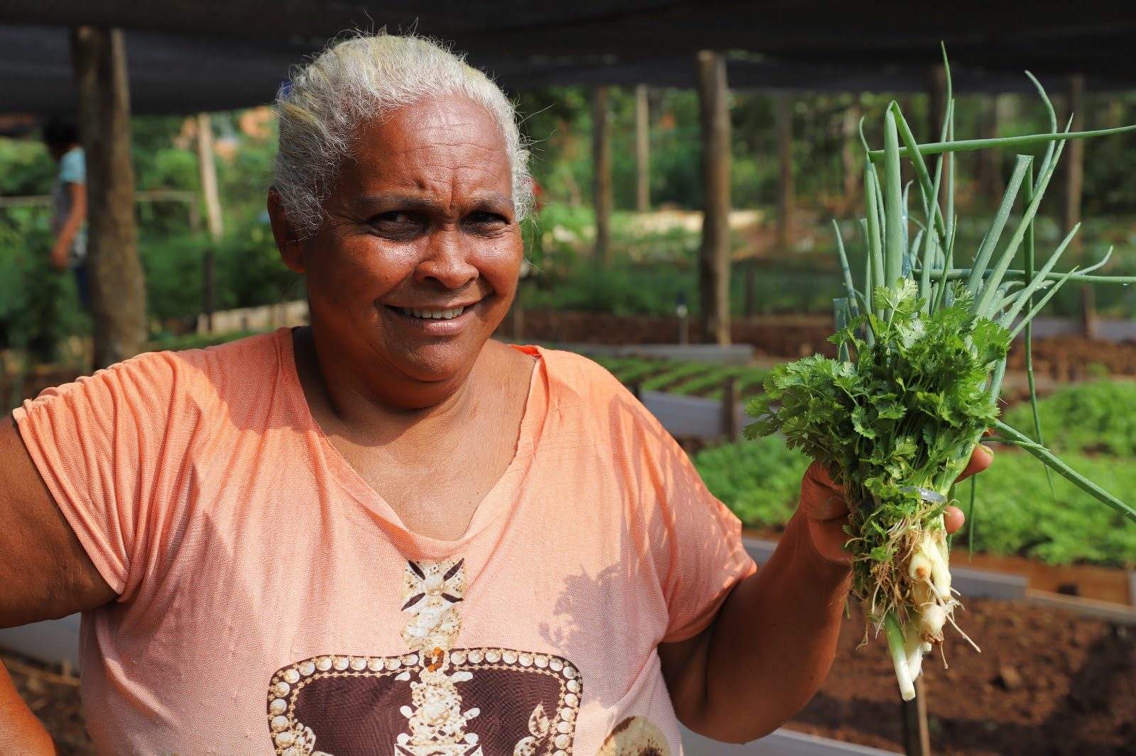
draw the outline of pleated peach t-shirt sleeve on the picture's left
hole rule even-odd
[[[120,596],[135,587],[149,502],[176,455],[174,383],[169,354],[147,354],[49,388],[12,413],[56,504]]]

